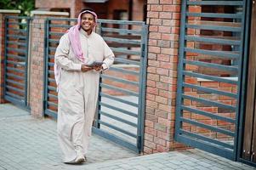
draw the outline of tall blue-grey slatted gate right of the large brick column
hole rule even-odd
[[[246,1],[182,1],[175,139],[236,159]]]

